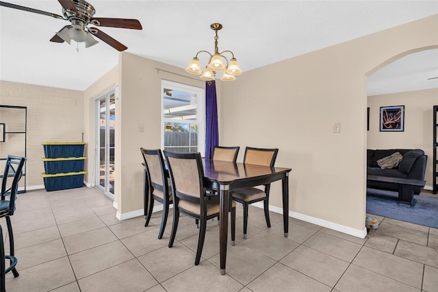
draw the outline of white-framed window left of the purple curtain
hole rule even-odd
[[[205,156],[204,90],[162,81],[162,149]]]

